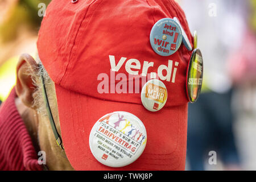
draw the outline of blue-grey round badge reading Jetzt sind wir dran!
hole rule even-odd
[[[181,42],[181,27],[174,19],[160,19],[151,29],[150,44],[152,49],[160,56],[174,54],[179,49]]]

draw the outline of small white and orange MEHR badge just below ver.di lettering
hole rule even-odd
[[[167,101],[166,85],[157,79],[149,80],[142,88],[141,101],[149,111],[162,109]]]

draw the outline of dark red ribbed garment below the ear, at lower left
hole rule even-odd
[[[15,105],[15,89],[0,107],[0,170],[42,170]]]

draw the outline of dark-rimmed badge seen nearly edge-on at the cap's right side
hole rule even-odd
[[[199,97],[203,82],[203,57],[200,49],[193,50],[187,69],[187,96],[190,102]]]

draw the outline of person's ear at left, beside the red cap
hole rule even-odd
[[[34,58],[28,54],[23,54],[19,57],[19,61],[16,67],[16,94],[23,102],[24,105],[33,108],[33,93],[36,86],[33,85],[31,75],[36,73],[38,64]]]

